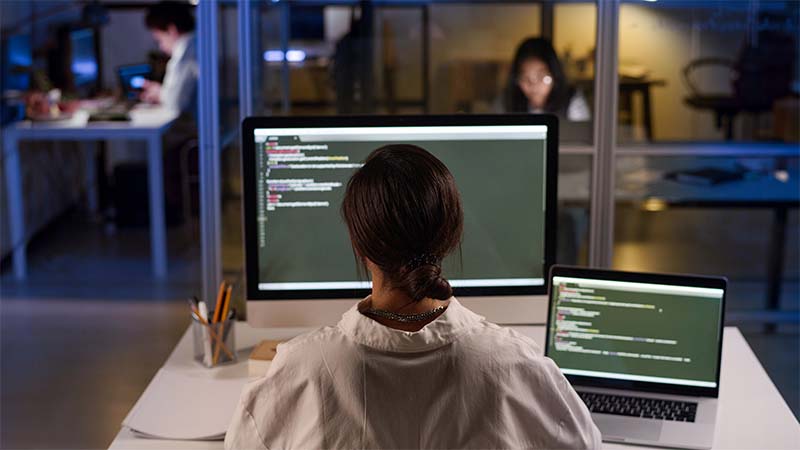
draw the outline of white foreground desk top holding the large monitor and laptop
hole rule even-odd
[[[544,343],[543,326],[514,327],[539,343]],[[247,377],[247,355],[262,339],[286,339],[303,330],[253,329],[237,324],[236,343],[240,362],[217,369],[205,369],[192,360],[191,330],[183,335],[164,368],[191,372],[209,378]],[[722,352],[719,415],[714,448],[720,449],[797,449],[800,424],[761,367],[744,337],[735,327],[726,327]],[[222,449],[222,441],[168,441],[142,439],[123,427],[112,450],[122,449]],[[635,449],[622,444],[604,444],[608,449]],[[641,448],[641,447],[639,447]]]

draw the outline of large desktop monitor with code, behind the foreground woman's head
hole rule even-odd
[[[248,118],[242,124],[247,318],[335,324],[369,294],[340,204],[383,145],[418,145],[452,172],[461,251],[443,262],[454,295],[498,323],[544,323],[556,242],[557,120],[549,115]]]

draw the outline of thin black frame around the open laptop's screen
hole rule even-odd
[[[668,284],[675,286],[691,286],[702,288],[722,289],[722,299],[720,300],[720,322],[717,330],[717,367],[716,367],[716,387],[686,386],[679,384],[656,383],[649,381],[618,380],[612,378],[591,377],[584,375],[564,374],[567,379],[575,386],[591,386],[599,388],[638,390],[646,392],[657,392],[675,395],[691,395],[702,397],[719,396],[719,372],[722,363],[722,335],[725,328],[725,297],[728,294],[728,280],[725,277],[711,277],[689,274],[666,274],[666,273],[645,273],[629,272],[621,270],[591,269],[586,267],[574,267],[554,265],[550,268],[550,276],[547,278],[547,321],[545,328],[545,347],[544,354],[550,357],[550,335],[553,315],[553,296],[552,286],[553,277],[574,277],[589,278],[596,280],[627,281],[633,283],[653,283]]]

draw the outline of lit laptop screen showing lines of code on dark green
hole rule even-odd
[[[718,388],[724,289],[591,272],[554,269],[547,356],[564,374]]]

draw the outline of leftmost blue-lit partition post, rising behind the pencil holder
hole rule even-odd
[[[202,1],[197,12],[201,279],[203,300],[209,301],[222,278],[218,2]]]

